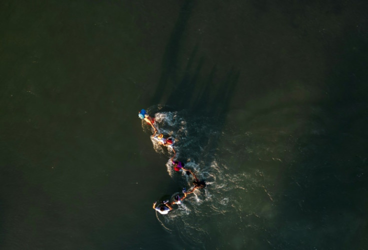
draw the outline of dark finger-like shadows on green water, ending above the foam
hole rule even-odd
[[[227,112],[229,102],[239,77],[239,71],[231,68],[224,77],[219,77],[217,66],[212,66],[205,75],[205,57],[194,46],[183,70],[180,70],[181,43],[194,1],[185,1],[167,42],[162,59],[159,82],[150,102],[164,104],[175,110],[187,110],[191,114],[219,119]],[[218,78],[217,78],[218,77]]]

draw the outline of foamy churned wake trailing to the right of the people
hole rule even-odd
[[[155,113],[158,133],[175,138],[175,159],[183,162],[184,168],[190,169],[207,186],[189,194],[182,204],[173,205],[174,209],[167,215],[157,216],[162,217],[160,222],[165,229],[179,232],[188,246],[203,246],[203,239],[210,235],[209,230],[217,228],[221,231],[222,218],[231,214],[231,217],[236,218],[236,224],[241,223],[241,218],[256,213],[244,210],[244,194],[257,193],[263,189],[266,191],[264,177],[260,172],[247,173],[239,166],[232,165],[231,159],[239,157],[240,153],[236,134],[221,132],[218,122],[211,118],[191,117],[186,111],[165,112],[162,109],[162,106],[158,106],[149,110]],[[151,137],[151,141],[157,153],[169,157],[173,155],[171,149],[160,145],[154,137]],[[170,160],[165,166],[171,178],[180,176],[187,190],[192,188],[191,175],[174,171]]]

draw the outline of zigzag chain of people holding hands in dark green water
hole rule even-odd
[[[176,151],[174,149],[174,142],[175,142],[174,138],[164,137],[163,134],[156,135],[158,130],[155,126],[154,119],[150,117],[144,109],[139,111],[138,117],[141,120],[144,120],[148,125],[150,125],[153,128],[154,133],[152,136],[155,140],[157,140],[159,144],[161,144],[162,146],[168,147],[172,150],[173,156],[171,157],[170,162],[172,163],[173,170],[177,172],[179,172],[180,170],[185,171],[187,175],[192,175],[195,180],[193,181],[193,188],[190,191],[186,192],[186,189],[183,188],[182,189],[183,195],[182,196],[175,195],[172,202],[161,201],[158,204],[157,202],[153,203],[152,208],[156,210],[157,212],[159,212],[160,214],[165,215],[170,210],[172,210],[172,205],[181,204],[181,201],[184,200],[188,194],[193,193],[196,189],[204,188],[206,184],[204,181],[200,181],[190,169],[184,168],[184,164],[182,162],[174,160],[174,158],[176,157]]]

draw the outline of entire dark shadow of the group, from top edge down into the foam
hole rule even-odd
[[[235,91],[239,70],[216,65],[206,59],[200,46],[195,45],[186,56],[182,43],[194,1],[185,1],[167,42],[161,64],[161,75],[150,103],[163,104],[161,111],[185,111],[189,134],[195,138],[181,147],[185,159],[212,162],[219,134]],[[224,68],[229,68],[224,70]],[[180,139],[180,138],[179,138]],[[196,157],[193,157],[196,154]],[[182,159],[182,160],[183,160]]]

